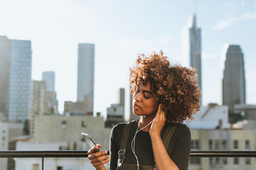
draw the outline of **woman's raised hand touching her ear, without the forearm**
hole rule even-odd
[[[161,130],[164,128],[165,123],[166,123],[166,109],[164,109],[162,104],[159,104],[158,111],[156,113],[154,121],[151,124],[151,128],[149,130],[149,135],[160,136]]]

